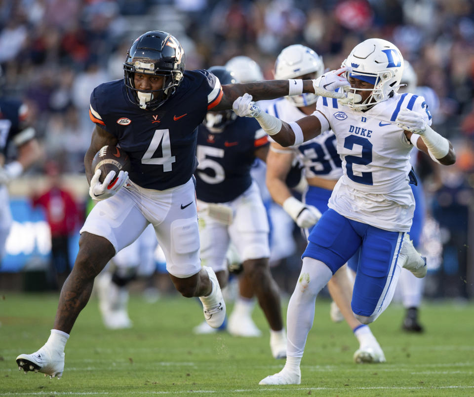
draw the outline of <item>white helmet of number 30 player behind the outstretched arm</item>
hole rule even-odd
[[[302,77],[308,74],[313,74],[308,78],[316,79],[323,72],[322,57],[311,48],[301,44],[283,48],[275,61],[275,78],[277,80]],[[310,93],[285,98],[297,107],[308,106],[317,101],[317,95]]]

